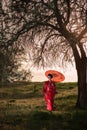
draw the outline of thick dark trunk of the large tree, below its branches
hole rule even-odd
[[[76,107],[85,108],[87,107],[87,57],[84,53],[83,46],[76,43],[72,43],[72,50],[75,58],[75,65],[78,77],[78,97]],[[79,50],[77,49],[77,45]]]

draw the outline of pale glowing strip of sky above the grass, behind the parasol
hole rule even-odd
[[[47,69],[44,69],[44,70],[34,70],[32,71],[32,75],[33,75],[33,78],[32,78],[32,81],[33,82],[43,82],[43,81],[46,81],[48,80],[47,77],[45,76],[45,72],[46,70],[56,70],[56,71],[59,71],[61,72],[62,74],[64,74],[65,76],[65,80],[63,82],[77,82],[77,72],[76,72],[76,69],[75,67],[68,67],[66,69],[63,69],[63,68],[47,68]]]

